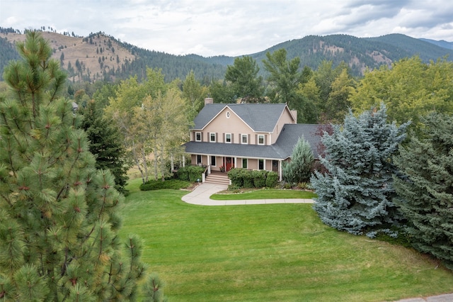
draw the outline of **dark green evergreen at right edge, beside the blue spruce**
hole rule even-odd
[[[395,158],[395,202],[413,247],[453,269],[453,116],[432,113],[422,121],[423,138],[411,138]]]

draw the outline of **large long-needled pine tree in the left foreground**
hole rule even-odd
[[[124,197],[59,97],[65,76],[47,41],[30,31],[18,52],[0,99],[0,298],[133,300],[146,265],[139,238],[123,247],[117,235]]]

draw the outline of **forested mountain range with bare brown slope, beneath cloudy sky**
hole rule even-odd
[[[166,81],[185,79],[193,70],[195,76],[208,84],[212,79],[223,79],[227,65],[234,63],[234,57],[200,55],[171,55],[165,52],[145,50],[123,43],[102,32],[92,33],[88,37],[61,35],[43,31],[54,50],[53,57],[62,62],[69,79],[73,82],[98,80],[115,81],[137,75],[146,77],[147,67],[162,69]],[[11,28],[0,28],[0,70],[8,60],[16,60],[17,53],[13,43],[24,40],[25,35]],[[280,48],[287,50],[287,60],[299,57],[301,67],[317,69],[323,60],[337,66],[346,62],[352,74],[361,76],[365,70],[376,69],[381,65],[390,66],[392,62],[404,57],[418,55],[424,62],[446,57],[453,60],[453,50],[441,47],[423,39],[407,35],[390,34],[375,38],[357,38],[352,35],[307,35],[304,38],[289,40],[273,47],[250,54],[264,74],[263,60],[267,52]]]

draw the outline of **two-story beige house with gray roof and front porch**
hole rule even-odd
[[[194,123],[185,152],[208,173],[259,169],[277,172],[281,181],[282,162],[302,136],[318,158],[319,125],[298,124],[297,112],[286,104],[213,104],[207,98]]]

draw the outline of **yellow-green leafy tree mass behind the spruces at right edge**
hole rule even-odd
[[[350,102],[356,112],[382,102],[391,121],[402,124],[411,120],[411,128],[418,130],[421,116],[434,111],[453,113],[452,81],[452,62],[425,64],[420,57],[411,57],[395,62],[391,68],[383,65],[367,72]]]

